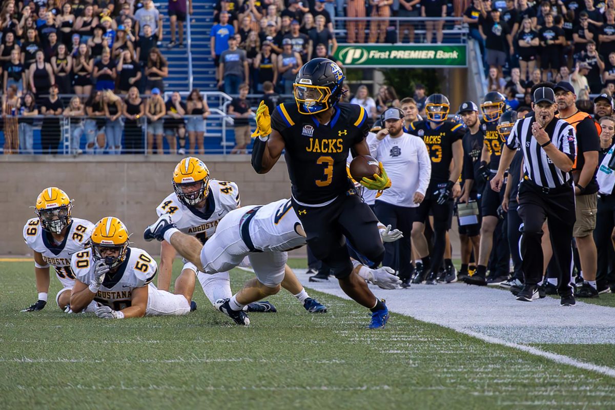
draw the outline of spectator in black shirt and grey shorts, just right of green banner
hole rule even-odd
[[[509,55],[514,54],[509,26],[500,21],[499,10],[493,9],[491,10],[490,17],[486,20],[485,26],[479,26],[479,30],[482,31],[481,34],[483,39],[485,39],[487,64],[501,71]]]

